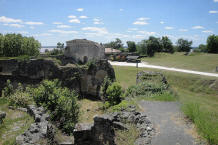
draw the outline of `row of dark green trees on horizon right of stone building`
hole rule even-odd
[[[192,41],[180,38],[177,40],[176,45],[173,45],[172,41],[167,36],[161,38],[150,36],[148,39],[142,40],[139,43],[135,43],[134,41],[127,41],[126,43],[128,46],[127,49],[124,49],[124,44],[119,38],[103,45],[106,48],[110,47],[121,51],[138,52],[141,55],[148,56],[153,56],[155,52],[189,52],[192,49]],[[210,35],[207,39],[207,44],[199,45],[199,47],[195,48],[194,51],[218,53],[218,36]]]

